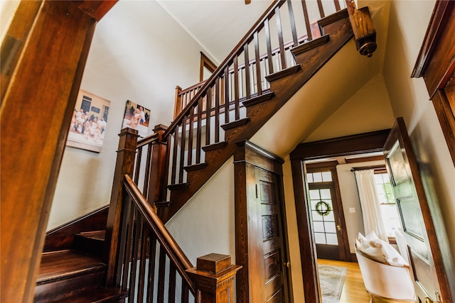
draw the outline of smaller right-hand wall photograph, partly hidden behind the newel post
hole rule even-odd
[[[149,134],[150,109],[146,109],[133,101],[127,100],[122,129],[129,127],[136,129],[139,136],[145,137]]]

